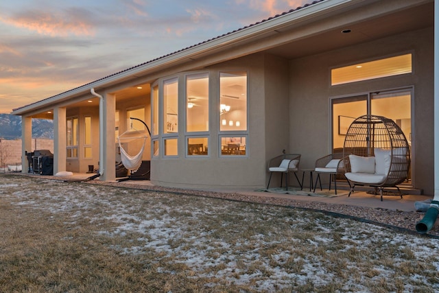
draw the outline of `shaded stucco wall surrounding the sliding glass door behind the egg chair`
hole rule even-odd
[[[302,154],[302,167],[313,167],[320,156],[331,152],[331,97],[414,87],[413,166],[414,187],[425,194],[434,191],[434,59],[433,29],[428,28],[346,47],[290,62],[290,148]],[[385,58],[414,55],[414,72],[390,78],[330,85],[333,67]],[[365,113],[366,114],[366,113]]]

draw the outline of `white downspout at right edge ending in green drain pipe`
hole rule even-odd
[[[416,231],[428,233],[439,215],[439,0],[434,1],[434,198]]]

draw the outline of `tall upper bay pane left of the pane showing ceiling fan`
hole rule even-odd
[[[163,82],[163,132],[178,132],[178,80]]]

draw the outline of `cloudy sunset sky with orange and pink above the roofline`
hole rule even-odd
[[[1,0],[0,113],[312,0]]]

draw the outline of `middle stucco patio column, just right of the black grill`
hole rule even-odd
[[[66,171],[67,120],[66,108],[54,109],[54,174]]]

